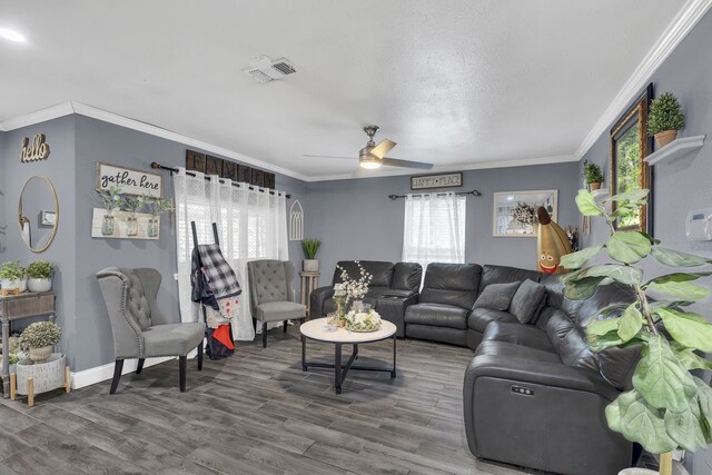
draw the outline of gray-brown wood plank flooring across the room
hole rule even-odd
[[[307,355],[332,360],[333,345]],[[389,363],[392,343],[362,345],[359,363]],[[347,352],[345,352],[346,354]],[[178,390],[178,362],[109,382],[0,402],[4,474],[521,474],[466,448],[463,374],[472,352],[398,340],[398,376],[301,372],[298,328],[268,347],[238,343],[234,357],[195,360]]]

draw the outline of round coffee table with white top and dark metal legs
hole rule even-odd
[[[334,369],[334,387],[336,394],[342,394],[342,383],[346,378],[349,369],[358,369],[362,372],[386,372],[390,373],[390,377],[396,377],[396,326],[390,321],[380,320],[380,329],[376,331],[350,331],[346,328],[329,327],[326,318],[317,318],[305,321],[299,327],[301,333],[301,370],[306,372],[309,367],[314,368],[333,368]],[[384,368],[377,366],[354,366],[354,360],[358,357],[358,345],[363,343],[374,343],[393,338],[393,367]],[[307,362],[307,339],[323,343],[334,344],[334,364],[328,363],[309,363]],[[354,345],[352,356],[345,365],[342,365],[342,345]]]

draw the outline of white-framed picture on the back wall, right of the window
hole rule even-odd
[[[558,190],[497,191],[494,194],[492,236],[536,237],[536,209],[558,218]]]

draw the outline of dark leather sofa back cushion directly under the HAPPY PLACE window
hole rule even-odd
[[[482,267],[476,264],[433,263],[425,270],[421,301],[455,305],[469,310],[477,299]]]

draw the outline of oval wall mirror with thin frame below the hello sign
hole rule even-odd
[[[33,253],[47,250],[59,225],[59,201],[52,182],[41,176],[27,180],[20,194],[18,206],[20,236]]]

